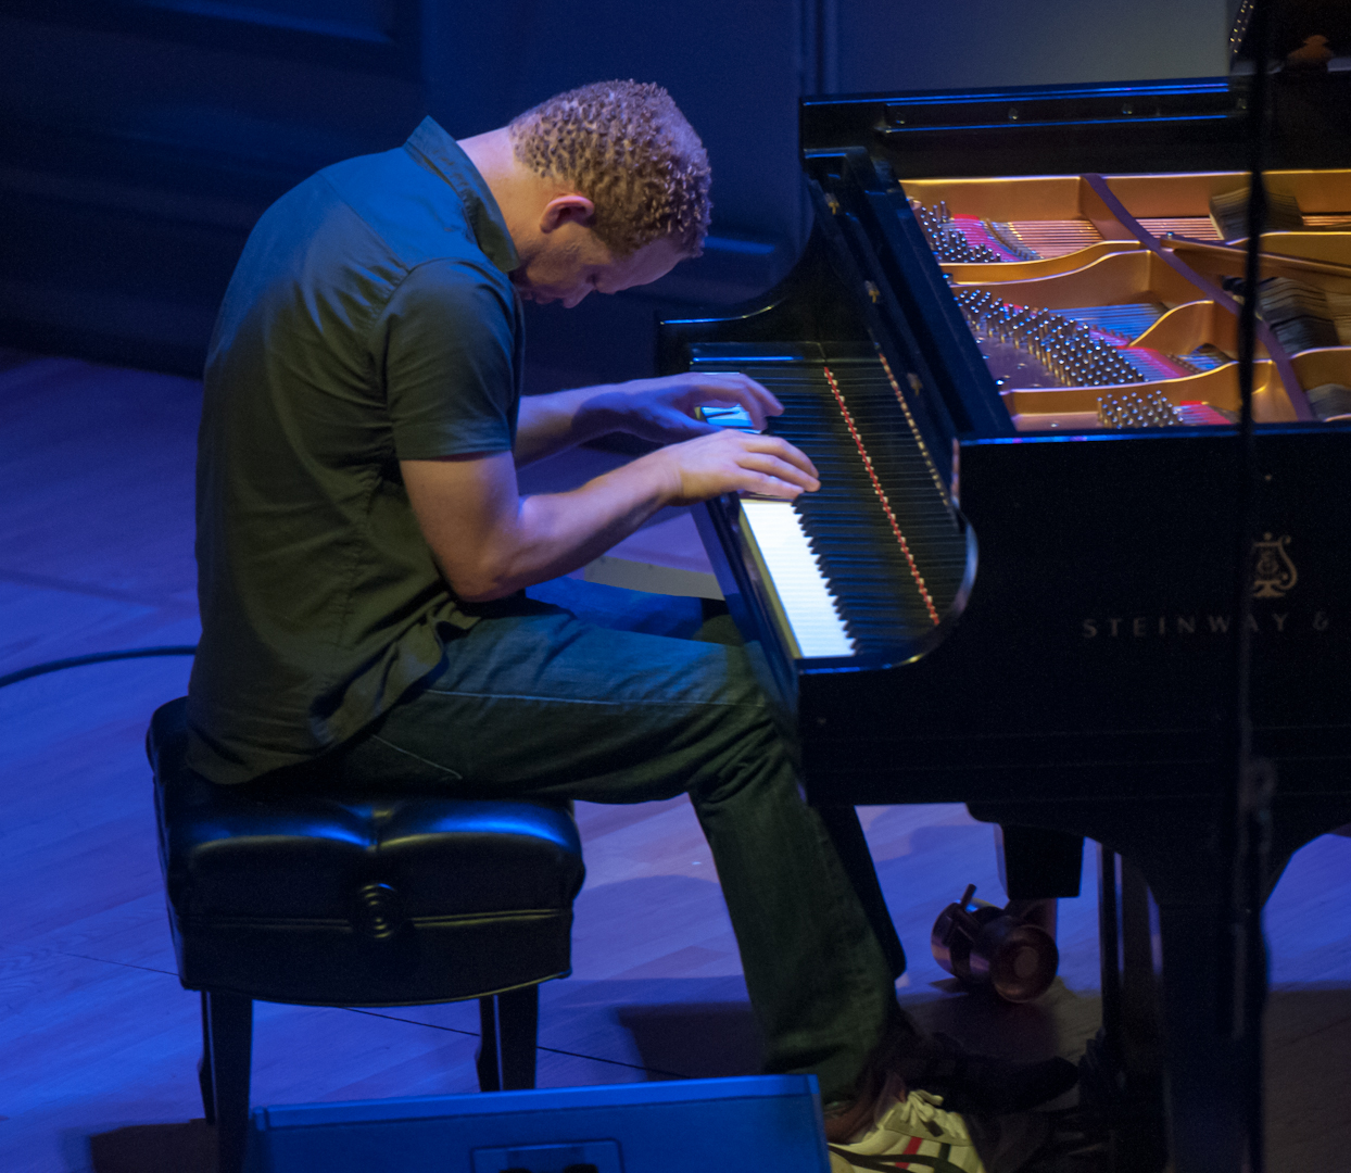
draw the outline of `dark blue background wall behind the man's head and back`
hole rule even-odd
[[[195,373],[258,214],[315,169],[499,126],[603,77],[665,84],[713,162],[707,255],[530,307],[531,386],[644,372],[655,312],[785,273],[800,95],[1220,73],[1229,0],[5,0],[0,342]],[[567,315],[567,316],[563,316]]]

